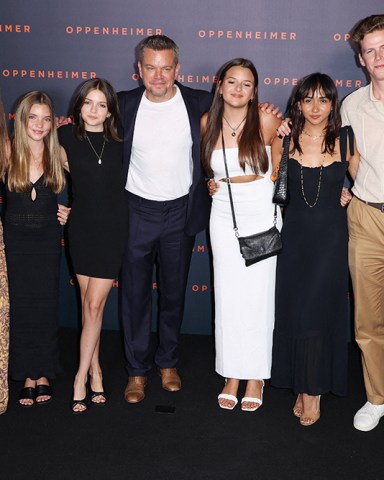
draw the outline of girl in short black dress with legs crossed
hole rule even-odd
[[[80,364],[72,402],[77,414],[89,405],[88,376],[91,403],[107,401],[99,362],[100,332],[105,302],[119,274],[127,224],[117,118],[116,93],[109,82],[95,78],[77,91],[74,125],[59,129],[64,166],[72,178],[68,240],[82,303]]]

